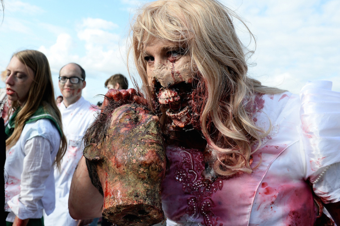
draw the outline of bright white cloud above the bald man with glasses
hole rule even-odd
[[[50,48],[44,46],[39,48],[48,56],[53,70],[59,70],[62,65],[69,62],[76,62],[92,72],[109,74],[115,73],[115,70],[126,72],[125,42],[119,46],[119,35],[103,29],[112,27],[112,24],[109,21],[93,18],[87,18],[85,21],[87,22],[83,23],[82,29],[77,32],[77,38],[63,33]],[[93,21],[101,22],[98,27],[94,27],[96,22]],[[102,26],[103,24],[105,26]],[[79,53],[72,55],[76,45],[83,48],[84,55],[79,55]]]

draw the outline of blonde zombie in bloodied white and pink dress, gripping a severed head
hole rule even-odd
[[[328,81],[298,96],[249,78],[235,19],[216,0],[159,0],[132,27],[142,89],[165,134],[167,225],[332,225],[323,206],[340,225],[340,93]],[[107,93],[141,101],[131,95]],[[102,210],[84,162],[69,199],[77,218]],[[95,216],[82,203],[89,194]]]

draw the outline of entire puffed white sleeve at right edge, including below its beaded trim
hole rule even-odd
[[[331,81],[314,81],[300,93],[305,179],[325,203],[340,201],[340,93],[331,89]]]

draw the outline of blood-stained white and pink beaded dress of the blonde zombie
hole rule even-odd
[[[252,174],[204,183],[202,153],[169,146],[162,184],[167,225],[313,225],[313,192],[340,201],[340,93],[308,82],[300,98],[285,92],[255,98],[254,121],[271,128],[253,154]]]

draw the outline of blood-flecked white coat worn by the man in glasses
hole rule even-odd
[[[49,216],[44,215],[44,224],[45,226],[76,226],[77,222],[71,218],[68,212],[68,194],[73,172],[83,155],[82,138],[86,129],[94,121],[97,112],[84,97],[67,108],[64,102],[61,102],[58,104],[58,108],[68,148],[61,161],[61,170],[59,171],[57,168],[54,170],[55,210]]]

